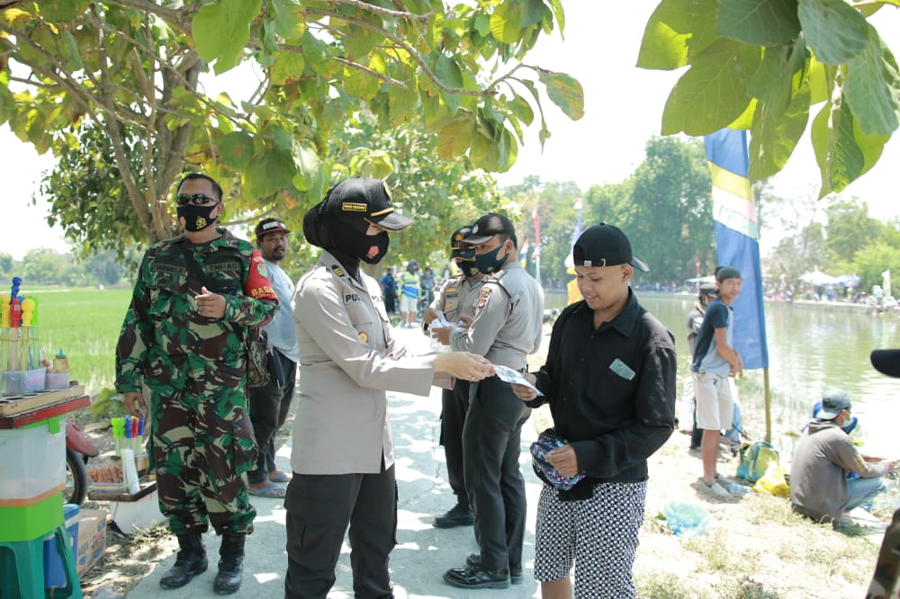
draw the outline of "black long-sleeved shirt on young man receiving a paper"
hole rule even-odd
[[[626,308],[596,329],[583,300],[563,309],[547,362],[535,373],[545,395],[528,404],[550,404],[554,427],[586,477],[561,498],[590,496],[599,482],[648,478],[647,459],[674,429],[676,366],[674,337],[634,291]]]

